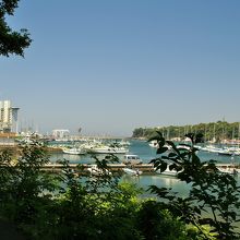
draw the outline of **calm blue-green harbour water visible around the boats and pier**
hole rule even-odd
[[[156,148],[153,148],[145,141],[131,141],[131,145],[129,147],[129,154],[137,154],[143,163],[149,163],[151,159],[154,159],[156,155]],[[105,155],[98,155],[99,158],[104,158]],[[120,161],[123,159],[123,155],[117,155]],[[231,163],[231,157],[229,156],[220,156],[215,153],[206,153],[199,152],[197,156],[202,160],[215,159],[219,163]],[[67,159],[72,164],[94,164],[95,159],[93,159],[89,155],[68,155],[68,154],[53,154],[50,157],[51,161],[56,161],[58,159]],[[236,164],[240,164],[240,157],[235,156]],[[238,182],[240,183],[240,176],[237,177]],[[175,177],[167,177],[161,175],[142,175],[140,177],[132,177],[124,175],[122,177],[122,181],[132,182],[137,184],[143,189],[148,189],[148,185],[155,184],[157,187],[166,187],[172,188],[173,191],[177,191],[181,194],[185,194],[188,190],[191,188],[190,185],[179,181]]]

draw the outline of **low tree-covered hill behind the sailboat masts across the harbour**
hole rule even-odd
[[[132,137],[149,137],[156,131],[159,131],[168,140],[183,140],[187,133],[202,133],[205,141],[221,142],[224,140],[239,140],[240,122],[217,121],[209,123],[199,123],[193,125],[169,125],[156,128],[137,128],[134,129]]]

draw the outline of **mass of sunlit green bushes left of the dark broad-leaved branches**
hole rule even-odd
[[[158,202],[141,200],[142,190],[119,182],[121,172],[109,173],[117,156],[93,157],[99,175],[82,165],[73,170],[67,160],[60,172],[49,173],[41,170],[49,159],[40,144],[24,145],[15,160],[0,152],[0,219],[35,240],[194,239]]]

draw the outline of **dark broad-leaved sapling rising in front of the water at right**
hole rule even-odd
[[[169,169],[178,172],[181,181],[191,183],[188,197],[179,197],[170,189],[151,187],[152,192],[165,199],[164,205],[171,214],[185,224],[197,227],[203,239],[212,239],[206,233],[205,226],[209,226],[217,239],[239,239],[235,224],[239,219],[240,189],[233,176],[221,173],[214,160],[201,161],[196,155],[194,144],[202,142],[202,134],[189,133],[185,135],[191,144],[185,148],[177,148],[171,141],[165,141],[158,133],[159,157],[152,163],[157,169]],[[166,144],[171,147],[167,152]]]

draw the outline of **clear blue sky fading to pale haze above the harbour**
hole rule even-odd
[[[21,0],[25,57],[0,57],[0,99],[41,133],[240,121],[239,0]]]

